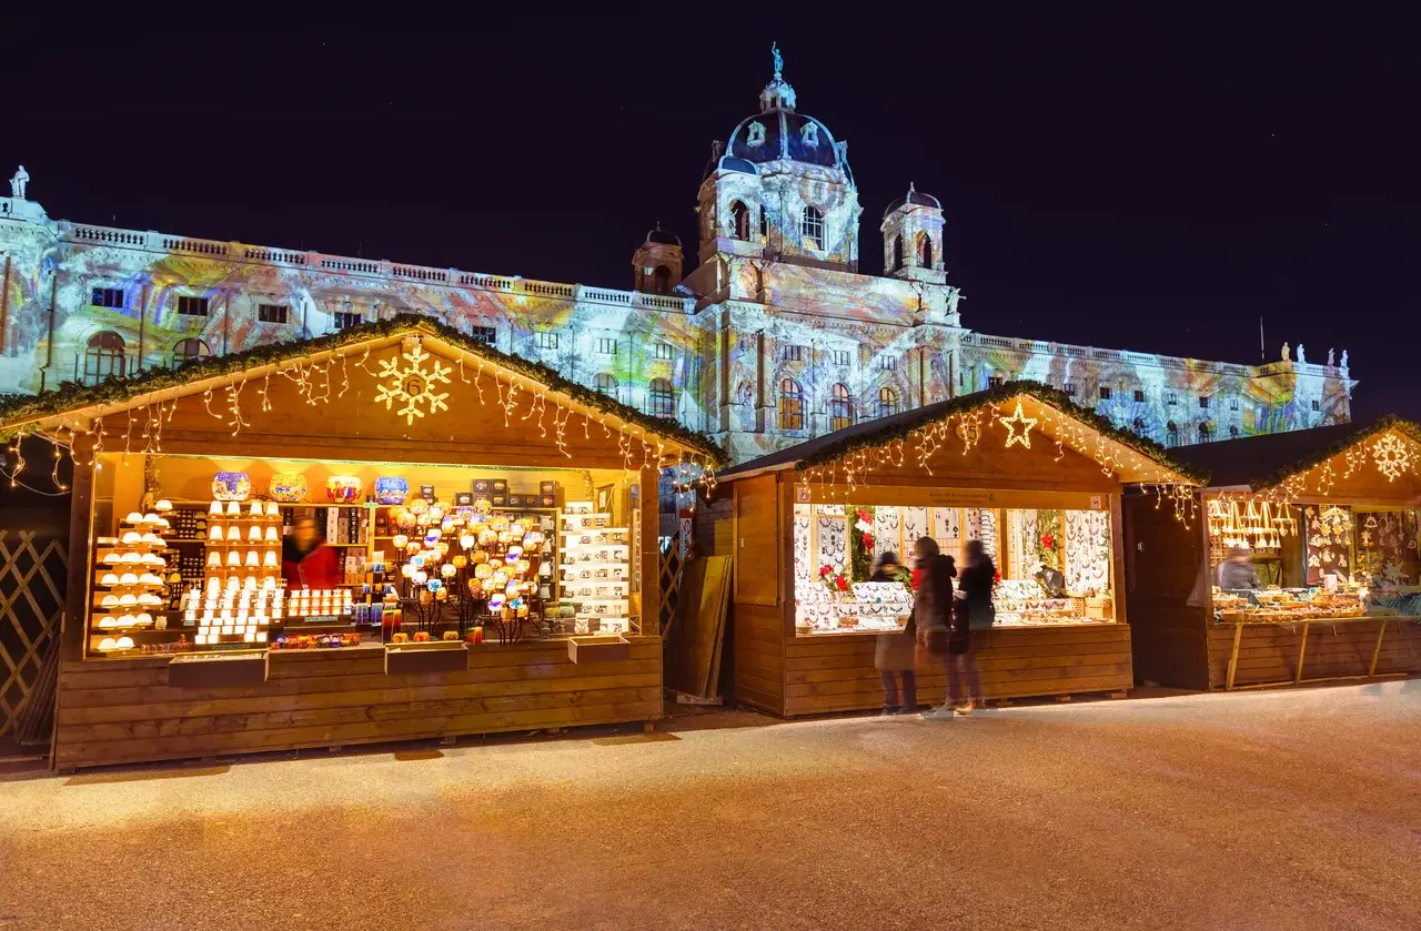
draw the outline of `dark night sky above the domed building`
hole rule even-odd
[[[657,220],[693,253],[710,141],[756,109],[779,40],[800,109],[848,141],[865,271],[912,181],[944,203],[972,328],[1250,362],[1262,316],[1269,360],[1350,350],[1356,416],[1421,418],[1401,23],[928,6],[20,23],[0,168],[24,162],[54,217],[630,287]]]

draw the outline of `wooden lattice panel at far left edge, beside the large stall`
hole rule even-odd
[[[47,654],[60,628],[67,580],[63,540],[34,530],[0,530],[0,736],[48,716],[54,695]],[[48,657],[53,660],[54,657]]]

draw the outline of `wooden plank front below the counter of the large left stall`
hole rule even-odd
[[[276,651],[266,682],[212,689],[169,688],[166,657],[65,662],[54,766],[654,721],[661,638],[630,640],[617,662],[574,664],[566,642],[534,641],[422,675],[385,675],[379,647]]]

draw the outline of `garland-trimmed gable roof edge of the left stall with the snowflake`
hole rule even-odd
[[[362,344],[389,344],[406,335],[422,335],[443,344],[452,354],[468,354],[493,362],[510,372],[546,385],[566,395],[573,402],[638,426],[665,441],[682,446],[686,452],[705,456],[712,463],[725,462],[725,453],[710,439],[695,434],[681,424],[631,408],[584,385],[568,381],[546,365],[530,362],[516,355],[506,355],[485,343],[475,340],[438,320],[416,314],[396,314],[388,320],[362,323],[313,340],[259,345],[230,355],[213,355],[189,361],[178,368],[151,368],[134,378],[111,378],[97,385],[64,382],[54,391],[37,395],[23,395],[0,402],[0,438],[14,436],[27,426],[53,429],[61,416],[80,414],[85,409],[125,409],[152,404],[158,392],[186,394],[207,391],[229,381],[246,377],[252,370],[263,367],[280,368],[286,362],[311,360],[314,357],[348,355],[348,351]]]

